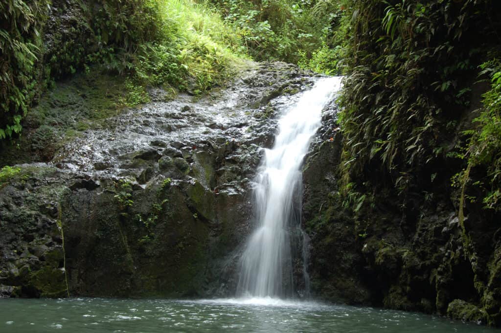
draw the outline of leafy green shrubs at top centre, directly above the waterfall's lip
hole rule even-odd
[[[213,0],[255,60],[299,63],[317,72],[337,71],[334,31],[338,0]]]

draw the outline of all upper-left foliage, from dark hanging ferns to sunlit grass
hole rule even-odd
[[[0,140],[21,133],[47,83],[91,65],[127,75],[134,106],[147,85],[206,91],[245,51],[215,12],[188,0],[10,0],[0,12]]]

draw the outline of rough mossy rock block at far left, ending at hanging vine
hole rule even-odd
[[[0,296],[66,294],[55,168],[32,165],[0,185]]]

